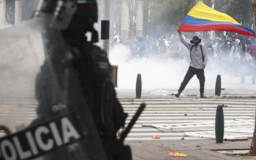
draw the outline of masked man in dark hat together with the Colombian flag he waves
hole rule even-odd
[[[190,43],[186,42],[181,36],[183,32],[194,31],[232,31],[247,36],[255,36],[255,31],[251,28],[245,27],[234,20],[232,17],[225,13],[218,12],[203,2],[199,1],[185,16],[178,28],[180,41],[188,48],[190,52],[190,64],[188,72],[181,82],[178,93],[175,94],[179,97],[181,92],[185,89],[189,80],[196,75],[200,83],[200,98],[206,98],[204,96],[204,68],[207,63],[207,55],[205,48],[199,45],[201,39],[198,36],[194,36]],[[200,47],[199,47],[200,46]]]

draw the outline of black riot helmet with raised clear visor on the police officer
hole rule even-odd
[[[96,0],[40,0],[33,17],[44,20],[49,28],[61,29],[63,36],[92,32],[92,42],[96,43],[98,32],[93,24],[98,21],[97,8]]]

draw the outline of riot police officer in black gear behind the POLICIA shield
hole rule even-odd
[[[50,4],[48,5],[50,6]],[[72,5],[70,8],[75,7]],[[41,10],[49,11],[47,5],[44,5]],[[92,127],[93,130],[95,127],[97,133],[92,132],[91,137],[96,136],[94,140],[99,143],[95,145],[103,146],[108,159],[129,160],[131,159],[129,146],[124,146],[123,141],[116,137],[117,131],[124,126],[127,114],[123,112],[122,106],[116,99],[116,92],[111,80],[111,65],[108,62],[107,54],[92,44],[98,42],[97,31],[93,28],[93,24],[98,20],[96,1],[77,1],[76,10],[71,17],[68,27],[61,28],[60,36],[56,36],[58,29],[55,28],[51,30],[50,34],[48,31],[48,34],[43,35],[47,59],[36,78],[39,118],[34,121],[34,124],[49,116],[56,116],[62,110],[66,110],[65,112],[75,111],[82,121],[81,123],[89,122],[89,124],[81,125],[82,130],[87,129],[83,130],[87,134],[85,134],[84,143],[79,144],[76,152],[70,154],[65,152],[65,149],[59,149],[58,152],[52,152],[46,156],[46,159],[70,159],[77,154],[82,155],[78,159],[83,159],[84,153],[80,152],[87,152],[86,157],[89,159],[97,159],[97,153],[90,148],[90,144],[94,142],[89,139],[90,136],[86,137],[89,128]],[[85,36],[88,31],[92,32],[91,41],[87,41]],[[49,37],[52,36],[60,38],[57,40],[58,44],[49,40]],[[52,46],[52,43],[56,45]],[[63,45],[59,43],[63,43]],[[55,82],[57,85],[54,84]],[[53,92],[54,89],[57,91]],[[56,103],[65,105],[56,108]],[[85,118],[84,121],[83,118]],[[97,135],[100,140],[97,140],[99,138]]]

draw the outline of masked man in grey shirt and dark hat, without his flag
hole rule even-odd
[[[206,98],[204,96],[204,82],[205,82],[204,68],[207,64],[207,55],[206,55],[205,48],[203,45],[199,45],[199,43],[201,43],[201,39],[199,39],[198,36],[194,36],[193,39],[190,40],[190,43],[188,43],[182,37],[179,31],[179,28],[178,28],[178,32],[179,32],[181,43],[184,44],[190,52],[191,60],[190,60],[187,74],[185,75],[183,82],[181,82],[178,93],[176,93],[175,96],[179,97],[181,92],[185,89],[186,85],[190,81],[190,79],[194,75],[196,75],[200,83],[200,98]]]

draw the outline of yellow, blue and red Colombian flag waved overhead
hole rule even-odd
[[[199,1],[182,20],[179,31],[230,31],[254,36],[255,31],[245,27],[225,13],[218,12]]]

